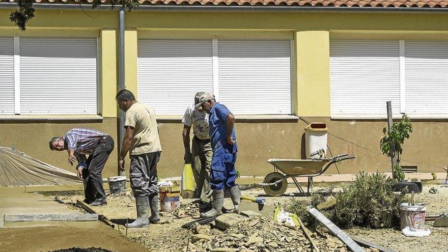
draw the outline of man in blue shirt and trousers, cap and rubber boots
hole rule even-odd
[[[194,107],[202,107],[209,114],[210,140],[213,149],[210,187],[212,192],[212,209],[201,213],[202,217],[222,214],[224,189],[229,190],[233,205],[232,212],[239,211],[241,191],[235,183],[236,153],[238,151],[235,135],[235,117],[229,109],[215,101],[213,94],[205,93]]]

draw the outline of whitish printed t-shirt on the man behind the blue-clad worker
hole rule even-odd
[[[198,138],[203,140],[210,139],[208,116],[205,111],[195,109],[194,105],[188,106],[184,118],[182,118],[182,123],[193,127],[193,134]]]

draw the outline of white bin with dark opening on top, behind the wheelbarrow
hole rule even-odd
[[[327,154],[328,129],[325,123],[310,123],[305,130],[305,155],[306,158],[325,158]],[[323,149],[323,156],[312,153]]]

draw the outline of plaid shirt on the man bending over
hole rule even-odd
[[[95,152],[100,140],[108,136],[107,134],[87,128],[74,128],[69,130],[65,136],[64,141],[68,150],[75,150],[75,157],[78,160],[78,167],[87,168],[86,154],[90,155]]]

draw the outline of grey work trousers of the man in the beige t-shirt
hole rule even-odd
[[[131,155],[129,180],[134,197],[152,197],[159,193],[157,187],[157,162],[160,152],[151,152],[141,155]]]

